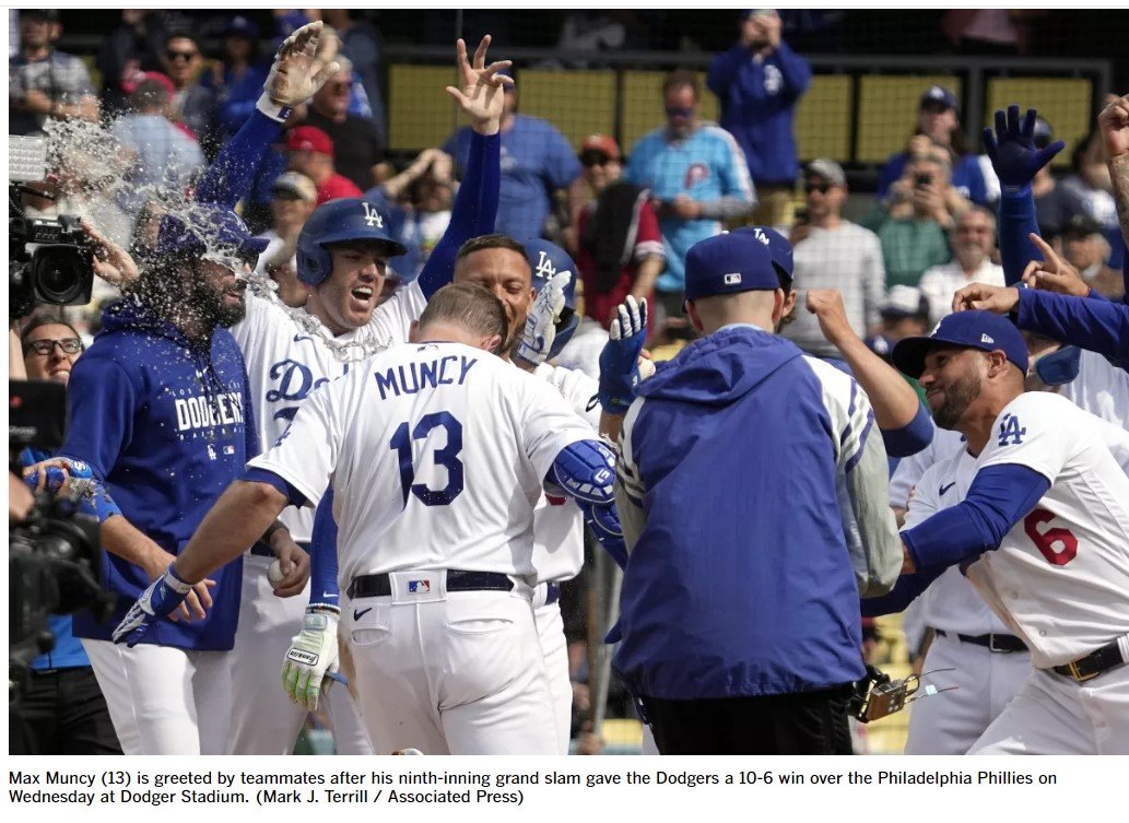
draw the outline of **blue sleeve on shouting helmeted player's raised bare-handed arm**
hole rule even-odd
[[[500,189],[501,134],[483,137],[473,132],[463,184],[450,210],[450,224],[417,279],[425,297],[430,298],[450,282],[460,246],[472,237],[493,231]]]

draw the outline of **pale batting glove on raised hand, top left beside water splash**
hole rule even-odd
[[[322,21],[307,23],[282,41],[271,73],[263,84],[259,110],[275,120],[286,120],[290,108],[301,105],[341,68],[333,58],[336,37],[322,36]]]

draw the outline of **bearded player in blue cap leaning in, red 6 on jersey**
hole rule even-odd
[[[1023,338],[986,312],[946,317],[893,359],[966,439],[910,501],[911,574],[894,595],[960,566],[1034,666],[970,753],[1129,752],[1129,434],[1024,392]]]

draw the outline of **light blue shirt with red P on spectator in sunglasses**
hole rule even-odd
[[[644,135],[631,149],[623,176],[650,189],[651,196],[658,200],[674,200],[679,194],[699,202],[723,196],[753,200],[744,152],[729,132],[714,124],[702,124],[685,140],[673,142],[667,140],[665,126]],[[664,217],[658,225],[666,269],[658,277],[657,288],[682,291],[686,281],[686,252],[699,240],[718,234],[721,224],[708,218]]]

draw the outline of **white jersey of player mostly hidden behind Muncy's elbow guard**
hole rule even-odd
[[[533,376],[555,388],[578,415],[599,434],[599,384],[580,371],[541,364]],[[537,581],[571,580],[584,564],[584,518],[574,500],[541,494],[533,511],[533,566]]]

